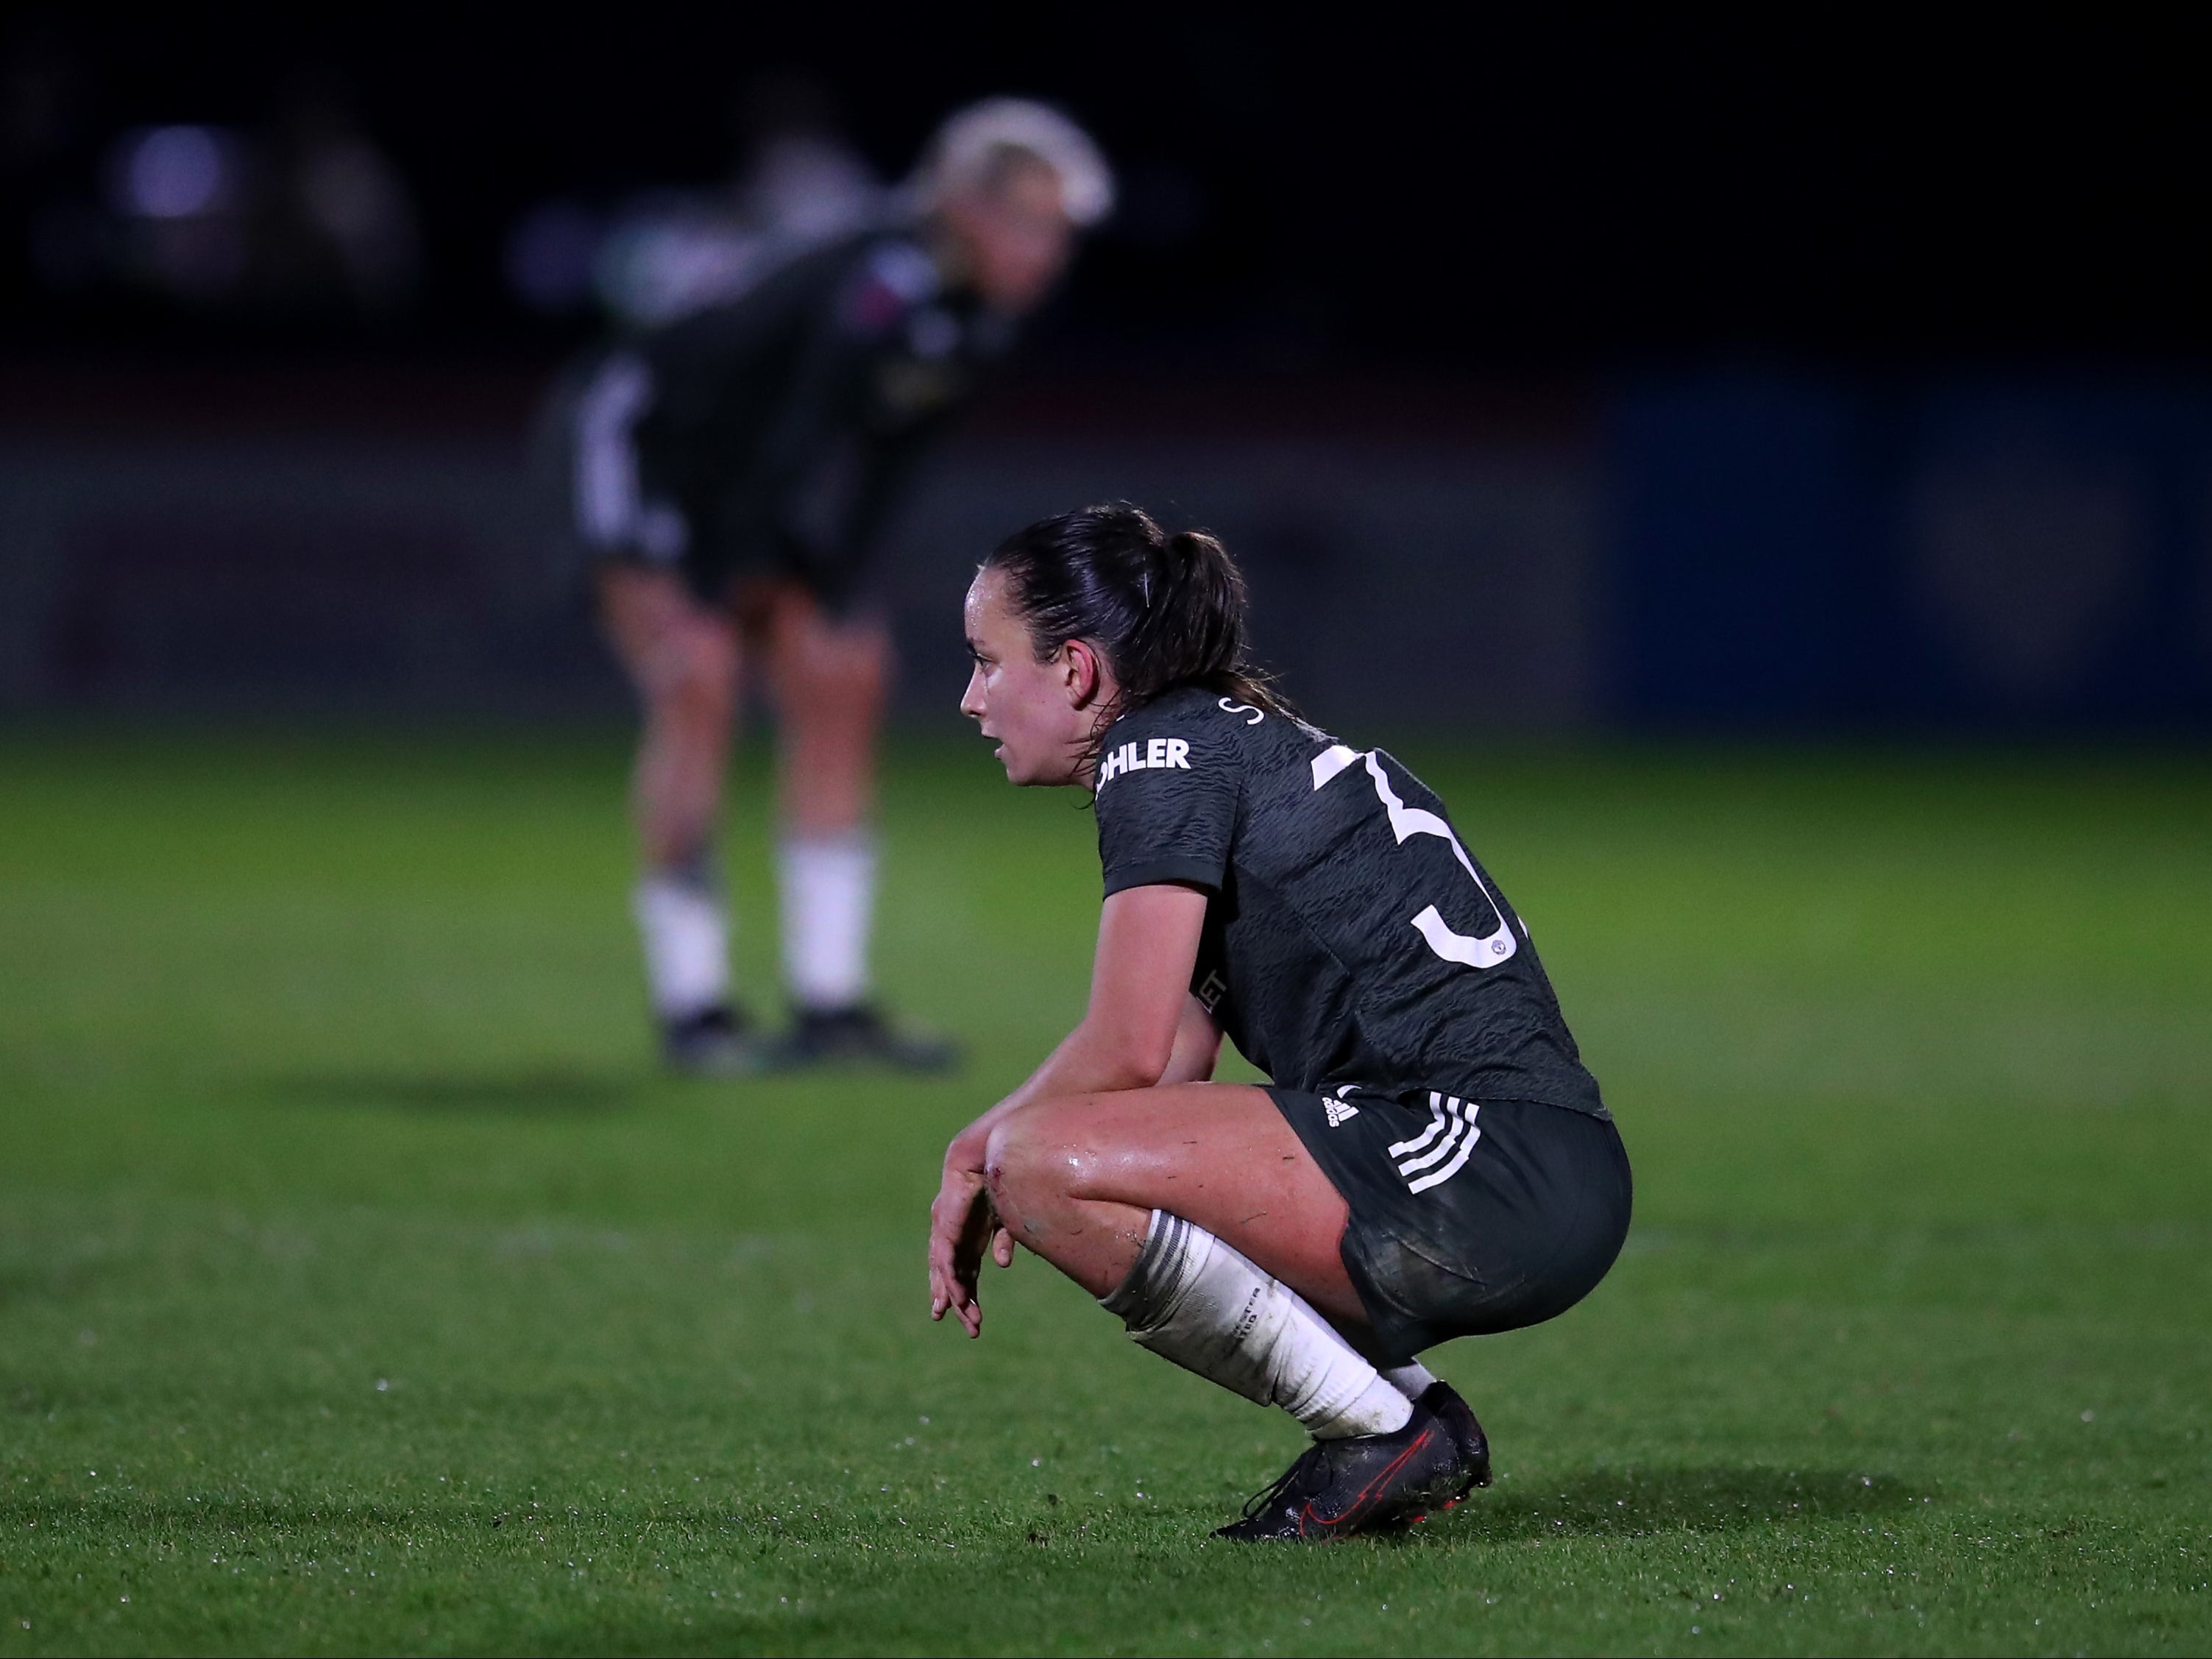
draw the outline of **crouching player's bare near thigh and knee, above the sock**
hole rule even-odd
[[[1026,1106],[991,1137],[995,1181],[1168,1210],[1332,1314],[1358,1314],[1338,1250],[1349,1212],[1265,1091],[1164,1084]]]

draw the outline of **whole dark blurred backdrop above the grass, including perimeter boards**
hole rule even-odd
[[[522,303],[511,248],[721,188],[759,88],[803,77],[885,179],[1004,91],[1121,173],[909,513],[911,708],[958,677],[978,542],[1128,495],[1230,535],[1323,712],[2212,730],[2205,33],[18,9],[0,708],[619,708],[522,456],[602,325]],[[133,279],[100,219],[128,135],[274,157],[303,100],[403,181],[405,294]]]

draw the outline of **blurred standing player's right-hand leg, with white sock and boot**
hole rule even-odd
[[[783,975],[794,1064],[887,1060],[933,1071],[953,1051],[894,1033],[869,1002],[876,907],[876,741],[891,639],[874,617],[836,617],[796,582],[743,597],[779,723]]]

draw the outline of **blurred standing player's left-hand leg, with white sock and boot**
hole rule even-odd
[[[737,626],[675,573],[633,564],[602,568],[599,617],[644,714],[630,779],[644,863],[635,911],[664,1053],[686,1071],[743,1071],[757,1053],[730,1002],[730,922],[714,869]]]

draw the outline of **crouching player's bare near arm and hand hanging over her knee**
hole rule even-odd
[[[929,1316],[956,1312],[982,1329],[975,1274],[984,1248],[1000,1267],[1013,1239],[984,1199],[984,1148],[1002,1117],[1035,1102],[1152,1088],[1212,1077],[1221,1033],[1190,995],[1206,894],[1192,887],[1126,887],[1099,911],[1091,1004],[1029,1082],[969,1124],[945,1148],[945,1181],[929,1206]]]

